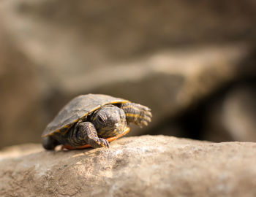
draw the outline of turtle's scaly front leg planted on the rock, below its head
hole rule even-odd
[[[78,123],[77,139],[83,138],[91,147],[109,147],[108,140],[99,138],[94,124],[91,122]],[[83,145],[83,144],[80,144]]]

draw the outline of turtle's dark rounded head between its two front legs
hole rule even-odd
[[[100,137],[116,136],[124,132],[127,120],[123,109],[112,104],[106,105],[94,112],[91,122]]]

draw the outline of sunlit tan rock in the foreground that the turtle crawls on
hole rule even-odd
[[[249,197],[256,195],[255,154],[255,143],[171,136],[122,138],[110,149],[38,148],[15,158],[1,152],[0,196]]]

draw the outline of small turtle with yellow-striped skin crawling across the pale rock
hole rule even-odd
[[[129,132],[129,123],[143,127],[151,122],[151,109],[104,94],[76,96],[46,126],[42,146],[54,150],[109,147],[109,142]]]

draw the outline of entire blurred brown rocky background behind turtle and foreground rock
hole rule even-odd
[[[0,147],[86,93],[151,107],[129,135],[256,142],[255,63],[254,0],[3,0]]]

